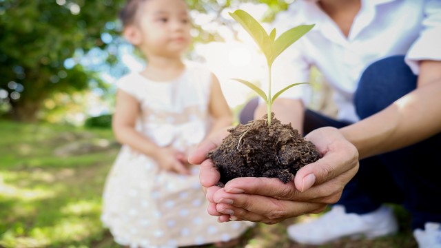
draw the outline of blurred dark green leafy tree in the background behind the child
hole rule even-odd
[[[245,0],[188,0],[197,12],[214,12],[214,21],[233,3]],[[252,1],[269,6],[268,18],[289,1]],[[36,121],[43,101],[58,92],[72,94],[94,87],[105,88],[99,73],[80,63],[78,54],[106,50],[121,42],[117,12],[125,0],[0,0],[0,103],[10,103],[10,116]],[[196,27],[198,29],[198,27]],[[199,28],[196,42],[219,40],[215,32]],[[90,57],[88,57],[90,59]],[[106,63],[115,63],[108,52]]]

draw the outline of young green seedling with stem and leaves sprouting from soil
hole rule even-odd
[[[280,37],[276,39],[276,29],[274,28],[270,34],[267,34],[265,29],[254,19],[250,14],[245,12],[244,10],[236,10],[233,13],[229,13],[230,16],[233,17],[242,27],[247,30],[248,34],[256,41],[260,50],[262,50],[263,54],[267,59],[268,72],[269,72],[269,83],[268,83],[268,95],[260,90],[256,85],[250,83],[249,81],[245,81],[243,79],[233,79],[244,85],[250,87],[254,92],[256,92],[260,97],[263,98],[265,103],[267,103],[267,116],[268,116],[268,126],[271,125],[271,106],[274,101],[291,87],[296,85],[300,85],[303,83],[293,83],[288,85],[287,87],[280,90],[274,96],[271,96],[271,66],[273,65],[274,60],[279,56],[285,49],[287,49],[290,45],[296,42],[300,37],[309,32],[313,25],[299,25],[295,28],[291,28],[287,32],[284,32]]]

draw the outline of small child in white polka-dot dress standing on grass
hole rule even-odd
[[[220,224],[207,214],[187,154],[231,125],[232,114],[214,74],[181,60],[190,43],[185,1],[129,0],[121,19],[147,66],[117,83],[112,126],[123,147],[107,176],[101,219],[120,245],[225,245],[249,224]]]

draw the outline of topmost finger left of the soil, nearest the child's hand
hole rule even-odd
[[[207,138],[205,141],[201,142],[201,144],[188,156],[189,163],[193,165],[200,165],[205,159],[207,159],[207,154],[212,149],[218,147],[218,145],[222,142],[223,138],[225,138],[229,132],[227,129],[220,130],[216,135]]]

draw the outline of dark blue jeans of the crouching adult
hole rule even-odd
[[[361,119],[380,112],[401,96],[416,89],[417,77],[404,63],[404,56],[391,56],[377,61],[363,72],[354,104]],[[254,113],[256,99],[240,113],[240,122],[247,123],[247,114]],[[344,127],[350,123],[337,121],[306,110],[304,132],[319,127]],[[346,185],[338,205],[348,213],[366,214],[382,203],[398,203],[411,213],[413,229],[424,229],[424,223],[441,223],[441,134],[393,152],[362,159],[356,176]]]

